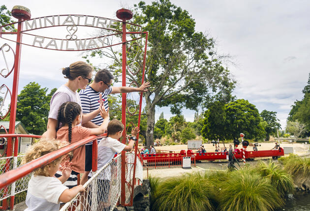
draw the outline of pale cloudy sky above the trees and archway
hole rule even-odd
[[[73,3],[74,2],[74,3]],[[149,0],[147,3],[151,2]],[[306,0],[172,0],[186,9],[196,21],[196,30],[217,40],[217,52],[233,56],[226,64],[237,80],[234,94],[247,99],[258,110],[277,111],[282,128],[295,100],[303,97],[310,66],[310,1]],[[9,9],[24,5],[31,17],[83,14],[116,18],[116,10],[130,8],[138,1],[76,0],[2,0]],[[55,32],[56,33],[56,32]],[[5,40],[0,39],[0,44]],[[9,43],[15,49],[14,43]],[[0,67],[3,59],[0,57]],[[22,47],[19,91],[31,81],[48,88],[65,83],[60,69],[81,59],[80,53],[56,52]],[[95,65],[102,63],[93,60]],[[12,75],[0,83],[12,85]],[[169,108],[156,108],[169,119]],[[184,109],[187,121],[193,111]]]

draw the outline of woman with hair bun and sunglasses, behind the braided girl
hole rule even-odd
[[[57,89],[54,93],[50,112],[48,115],[46,138],[56,138],[56,131],[60,128],[58,122],[58,111],[60,106],[66,102],[75,102],[81,105],[81,99],[77,93],[78,89],[85,89],[87,84],[92,81],[93,67],[83,61],[70,64],[69,67],[62,68],[62,74],[68,81]],[[100,107],[88,114],[82,114],[82,123],[86,123],[100,113]]]

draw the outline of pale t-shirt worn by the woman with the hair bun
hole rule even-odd
[[[48,118],[58,119],[59,108],[60,106],[62,106],[63,103],[66,102],[75,102],[81,106],[81,99],[79,93],[73,92],[71,89],[69,89],[69,87],[62,85],[57,89],[51,99],[50,113],[48,115]]]

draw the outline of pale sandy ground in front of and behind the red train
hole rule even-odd
[[[259,143],[261,146],[258,146],[259,150],[270,150],[275,146],[274,142],[267,142],[267,143]],[[226,148],[229,147],[229,144],[225,144]],[[207,152],[214,152],[215,146],[213,144],[204,144],[204,147]],[[223,147],[223,143],[219,144],[219,147]],[[307,156],[309,155],[309,144],[301,144],[301,143],[287,143],[283,142],[280,143],[280,147],[293,147],[295,150],[295,154],[299,156]],[[241,149],[241,145],[239,145]],[[170,146],[160,146],[155,147],[156,150],[167,150],[167,151],[175,151],[175,153],[180,152],[181,150],[187,150],[187,145],[170,145]],[[252,151],[252,147],[248,147],[248,151]],[[288,156],[288,155],[284,155]],[[255,164],[257,160],[250,161],[251,164]],[[242,163],[241,163],[242,164]],[[159,177],[159,178],[169,178],[174,176],[181,176],[186,173],[193,173],[193,172],[205,172],[205,171],[226,171],[227,169],[227,162],[222,161],[202,161],[201,163],[196,163],[196,167],[192,165],[191,169],[183,169],[180,167],[173,167],[173,168],[162,168],[162,169],[149,169],[149,176],[152,177]],[[143,171],[144,178],[147,178],[147,171]]]

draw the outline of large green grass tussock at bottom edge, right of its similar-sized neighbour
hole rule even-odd
[[[229,179],[221,184],[221,210],[270,211],[283,205],[283,200],[268,178],[248,168],[229,175]]]

